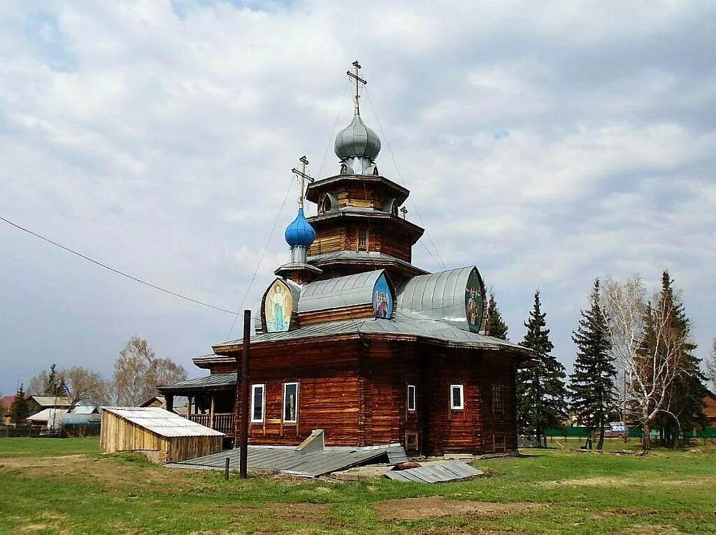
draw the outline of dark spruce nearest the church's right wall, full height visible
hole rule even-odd
[[[549,340],[539,290],[524,325],[527,333],[520,344],[536,353],[536,365],[518,373],[518,426],[523,433],[533,432],[538,445],[546,447],[546,429],[561,427],[566,416],[566,374],[564,366],[551,354],[554,346]]]

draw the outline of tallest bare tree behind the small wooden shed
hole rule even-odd
[[[117,403],[137,406],[157,393],[157,385],[183,381],[183,366],[168,358],[157,358],[147,340],[132,336],[115,362]]]

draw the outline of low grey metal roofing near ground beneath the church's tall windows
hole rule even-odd
[[[358,466],[382,456],[398,459],[398,462],[407,460],[405,450],[400,444],[362,448],[328,446],[322,451],[311,453],[297,451],[293,446],[248,446],[247,466],[251,471],[274,470],[291,476],[315,478],[351,466]],[[230,468],[237,470],[239,466],[238,449],[193,458],[169,466],[223,470],[227,457]]]

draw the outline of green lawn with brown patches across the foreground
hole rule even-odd
[[[639,457],[551,445],[479,461],[473,481],[420,485],[224,481],[101,456],[93,438],[0,438],[0,533],[716,533],[713,446]]]

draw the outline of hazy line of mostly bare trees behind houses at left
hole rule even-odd
[[[159,358],[144,338],[132,336],[115,360],[112,378],[105,379],[85,366],[61,368],[56,363],[21,383],[9,411],[13,423],[30,416],[29,396],[69,398],[72,406],[138,406],[155,396],[158,385],[184,381],[187,373],[170,358]]]

